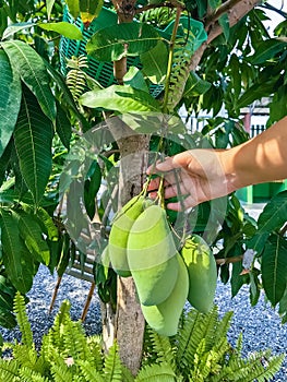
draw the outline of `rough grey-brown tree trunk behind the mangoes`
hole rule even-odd
[[[119,202],[127,203],[142,191],[147,167],[150,138],[131,135],[118,141],[121,152]],[[118,280],[116,338],[122,362],[135,375],[142,360],[145,321],[132,277]]]

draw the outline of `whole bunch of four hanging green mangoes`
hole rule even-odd
[[[192,236],[179,253],[166,211],[145,196],[119,211],[107,251],[113,270],[133,277],[144,318],[159,334],[177,333],[187,300],[203,312],[212,308],[217,275],[208,246]]]

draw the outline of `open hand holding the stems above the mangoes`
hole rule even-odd
[[[165,199],[183,196],[183,201],[167,207],[181,211],[235,191],[235,176],[225,174],[223,156],[227,151],[190,150],[148,167],[147,174],[164,177]],[[147,191],[155,199],[160,177],[152,179]]]

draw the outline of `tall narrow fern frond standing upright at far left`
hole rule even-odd
[[[14,313],[22,334],[22,343],[29,348],[34,348],[33,333],[28,317],[26,313],[26,305],[24,297],[17,291],[14,297]]]

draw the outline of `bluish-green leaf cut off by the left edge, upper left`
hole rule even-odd
[[[0,49],[0,157],[2,156],[16,124],[21,105],[21,81],[12,70],[7,53]]]

